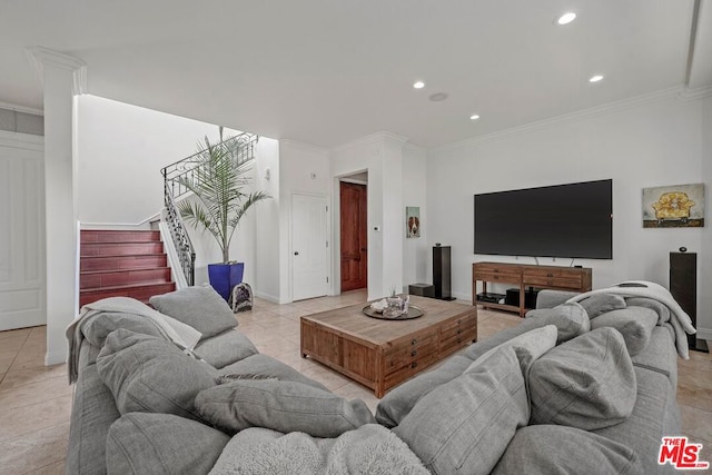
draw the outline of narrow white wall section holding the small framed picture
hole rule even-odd
[[[432,280],[427,275],[427,263],[431,260],[432,243],[427,235],[427,150],[406,145],[403,148],[403,285],[407,291],[408,284],[426,283]],[[418,206],[421,208],[419,238],[406,238],[405,207]]]

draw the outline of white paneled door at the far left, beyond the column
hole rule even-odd
[[[41,146],[18,147],[0,140],[0,330],[47,323],[44,158]]]

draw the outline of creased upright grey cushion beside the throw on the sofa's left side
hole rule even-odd
[[[166,413],[198,418],[196,394],[216,385],[217,370],[172,343],[118,329],[97,358],[99,376],[121,414]]]

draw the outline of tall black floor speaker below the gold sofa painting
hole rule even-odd
[[[670,253],[670,293],[698,327],[698,255]],[[690,349],[710,353],[708,344],[695,335],[688,335]]]

